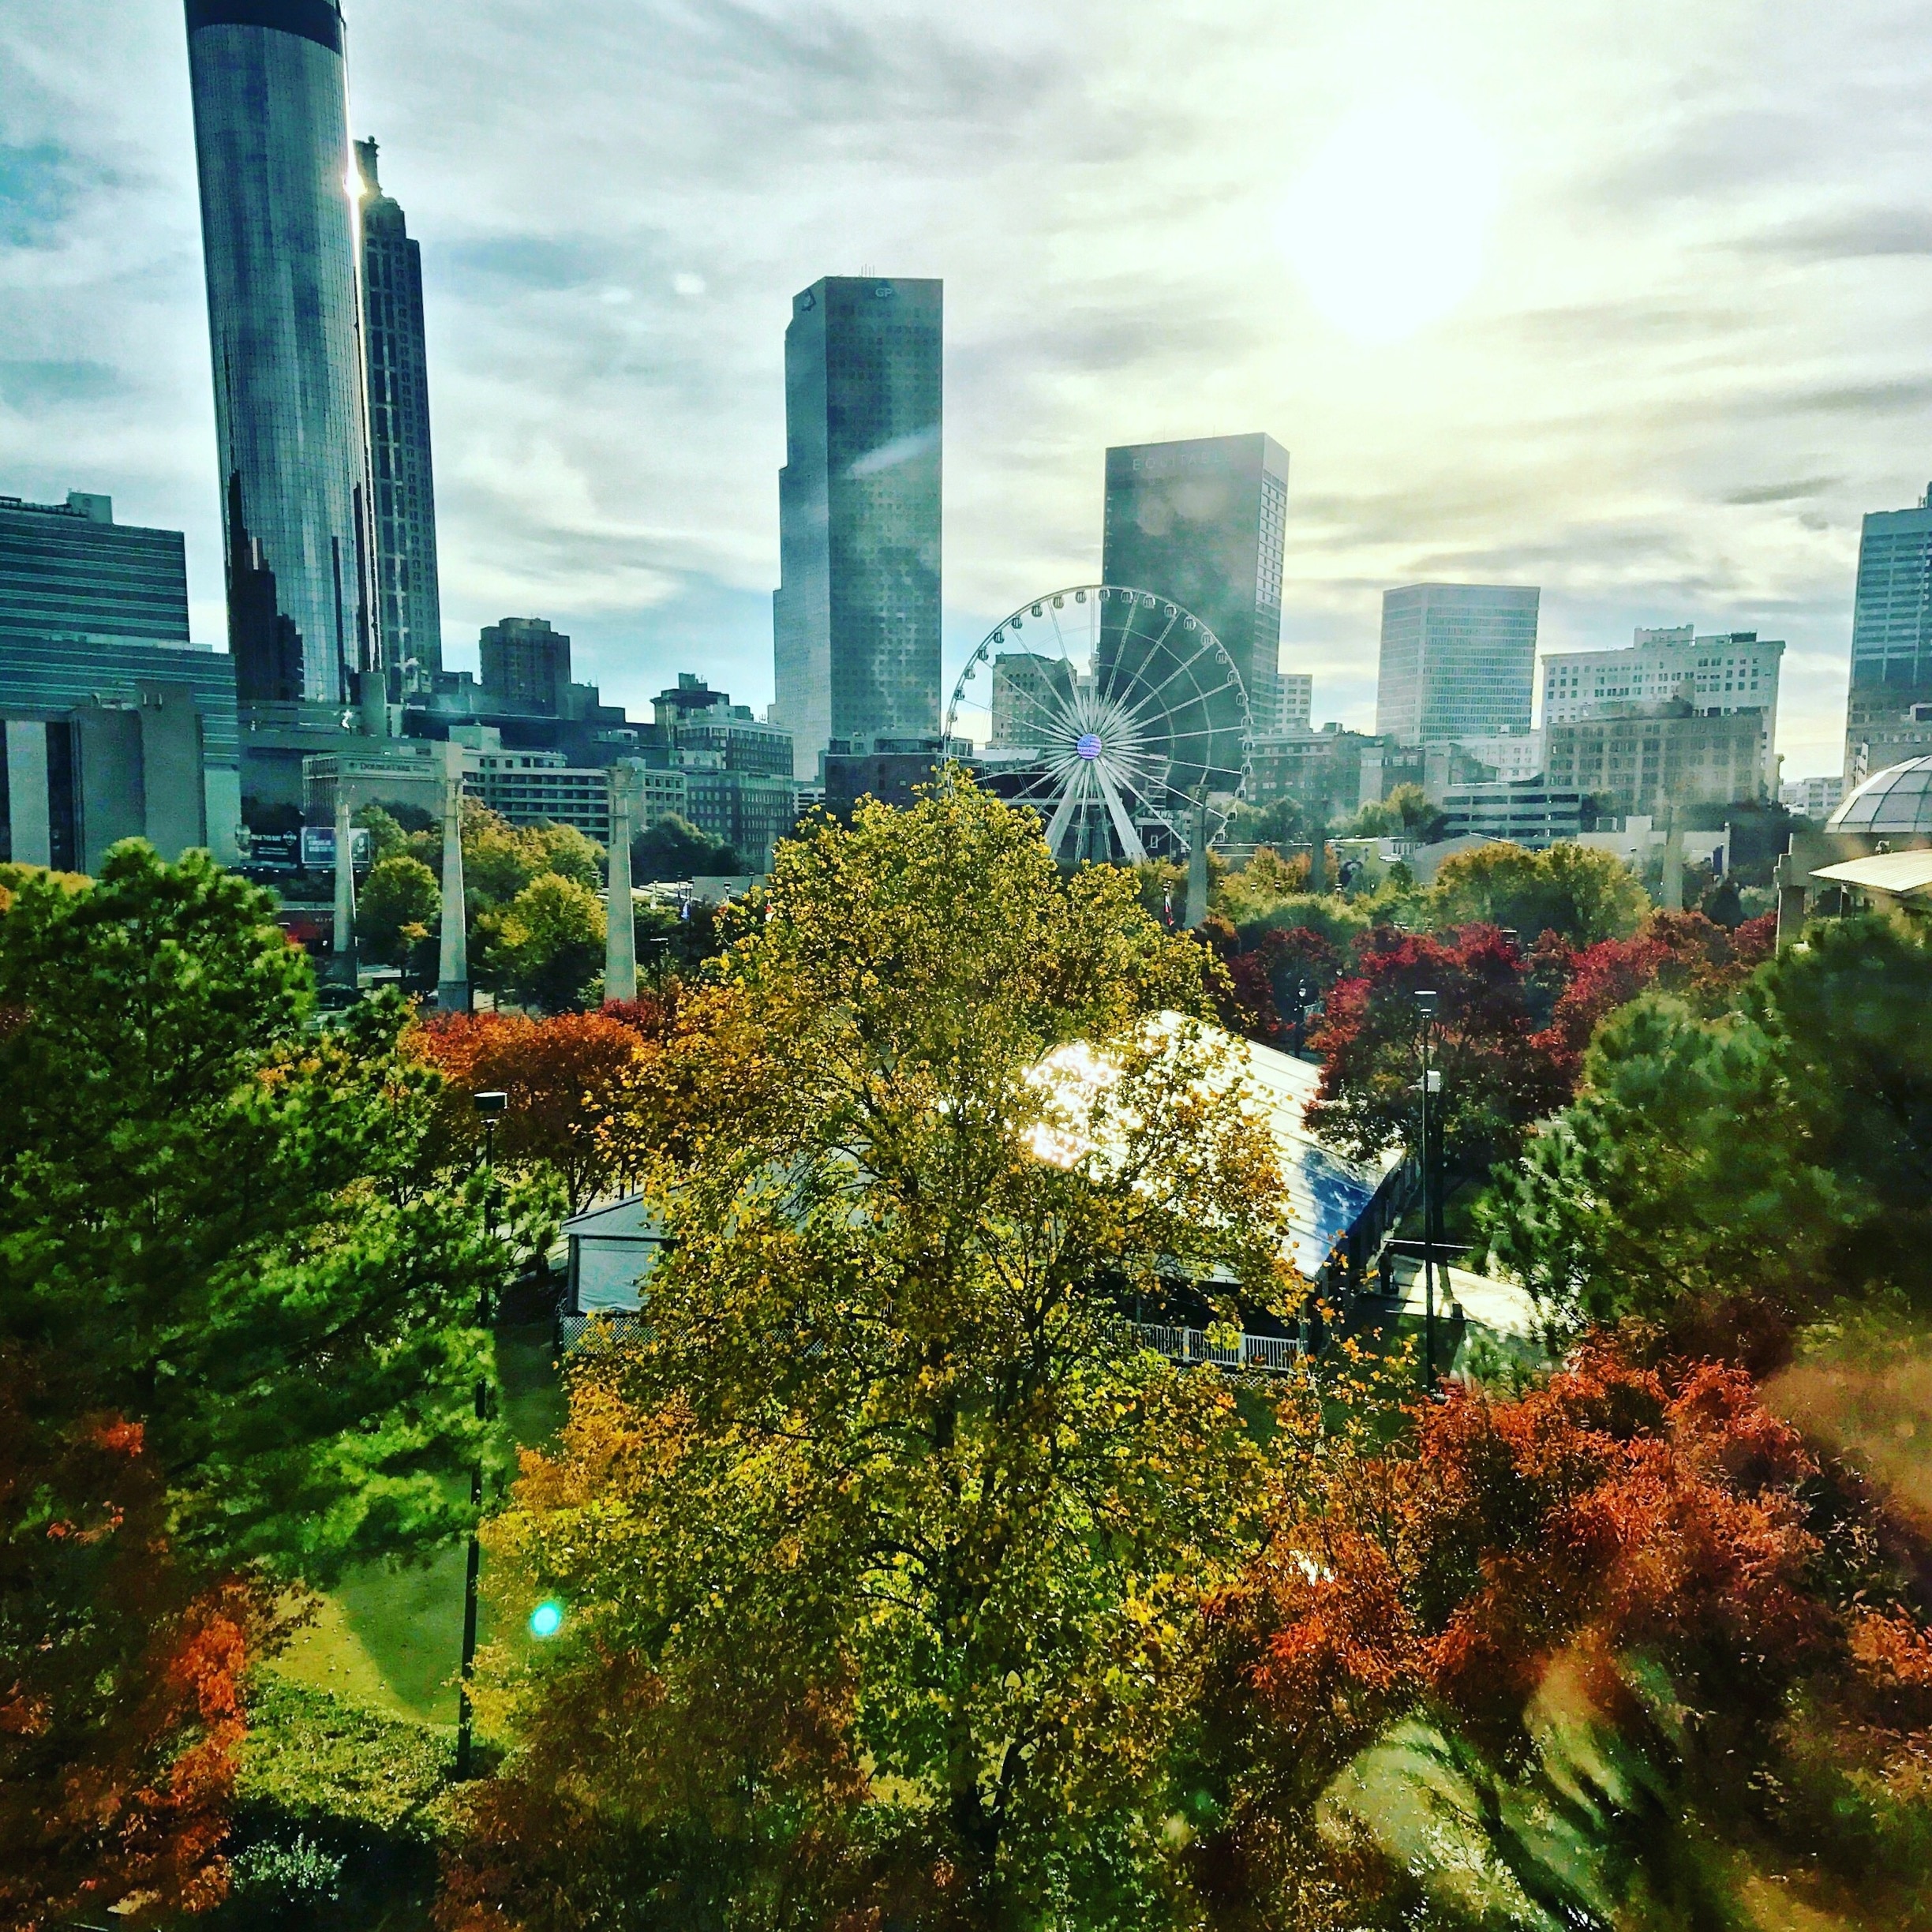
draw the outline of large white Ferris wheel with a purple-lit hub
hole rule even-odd
[[[947,738],[987,788],[1039,813],[1053,856],[1184,858],[1246,781],[1248,694],[1221,639],[1151,591],[1084,583],[995,624],[966,661]]]

